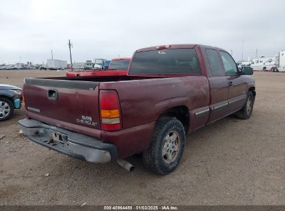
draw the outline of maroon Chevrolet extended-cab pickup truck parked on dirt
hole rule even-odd
[[[227,51],[175,44],[135,51],[127,76],[26,78],[28,139],[89,162],[142,153],[144,165],[169,174],[182,158],[185,135],[236,113],[250,118],[252,69]]]

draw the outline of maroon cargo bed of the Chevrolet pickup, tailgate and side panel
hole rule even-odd
[[[49,90],[57,91],[58,99],[49,99]],[[118,94],[125,136],[118,135],[121,130],[101,130],[99,90],[115,90]],[[123,154],[119,152],[126,157],[148,146],[155,120],[163,111],[184,106],[194,115],[207,108],[209,83],[205,76],[26,78],[24,96],[29,118],[128,148]],[[206,118],[198,119],[191,128],[202,126]],[[138,131],[138,137],[126,137],[126,131],[133,130]]]

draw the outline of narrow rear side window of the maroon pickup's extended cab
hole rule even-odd
[[[206,49],[206,53],[211,69],[211,76],[223,76],[223,67],[218,57],[218,52],[213,49]]]

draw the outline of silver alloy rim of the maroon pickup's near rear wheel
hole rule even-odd
[[[178,157],[178,152],[180,149],[180,138],[178,133],[175,131],[169,132],[164,137],[164,143],[162,147],[162,158],[164,162],[171,163]]]

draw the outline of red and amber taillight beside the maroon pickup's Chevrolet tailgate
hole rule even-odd
[[[121,130],[121,109],[118,94],[114,90],[101,90],[99,103],[102,130]]]

